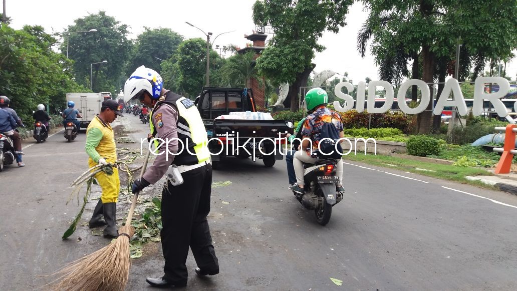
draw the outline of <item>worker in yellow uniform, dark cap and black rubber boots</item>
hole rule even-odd
[[[86,153],[88,154],[88,166],[94,167],[97,164],[107,165],[117,160],[115,139],[110,123],[117,116],[123,116],[118,110],[118,103],[108,99],[102,102],[100,113],[90,122],[86,130]],[[102,232],[104,237],[115,238],[118,235],[116,224],[116,208],[120,180],[118,169],[113,167],[113,175],[101,171],[95,175],[95,179],[102,189],[102,195],[95,206],[94,214],[88,226],[97,227],[107,225]]]

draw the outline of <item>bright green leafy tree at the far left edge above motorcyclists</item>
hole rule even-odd
[[[66,58],[52,50],[56,41],[41,26],[0,26],[0,95],[11,99],[25,121],[37,104],[50,105],[55,113],[65,108],[67,92],[85,89],[73,81]]]

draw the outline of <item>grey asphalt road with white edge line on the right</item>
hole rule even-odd
[[[140,146],[132,141],[148,125],[138,121],[113,124],[119,148]],[[0,173],[0,289],[42,289],[55,270],[109,242],[86,226],[60,239],[79,211],[77,200],[65,202],[87,169],[84,141],[80,134],[67,143],[62,132],[42,144],[24,141],[27,165]],[[221,273],[197,278],[189,255],[184,289],[517,289],[517,196],[358,163],[346,162],[344,172],[344,199],[321,226],[287,190],[284,161],[222,164],[213,180],[231,184],[212,189],[209,215]],[[144,194],[159,196],[160,188]],[[94,187],[92,197],[99,195]],[[119,204],[120,218],[127,204]],[[160,243],[148,243],[133,259],[127,289],[152,289],[145,277],[161,276],[162,267]]]

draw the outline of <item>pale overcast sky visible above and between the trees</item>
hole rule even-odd
[[[120,23],[130,26],[131,38],[136,38],[144,26],[150,28],[167,27],[185,38],[205,37],[202,32],[187,25],[188,21],[213,33],[213,37],[223,34],[214,42],[214,47],[235,44],[244,47],[255,29],[252,21],[252,6],[255,0],[187,0],[187,1],[64,1],[64,0],[6,0],[6,14],[12,19],[12,27],[21,28],[25,24],[41,25],[48,33],[62,32],[68,25],[89,13],[104,10]],[[347,26],[339,34],[325,33],[320,43],[327,48],[317,53],[313,63],[315,71],[332,70],[337,73],[348,72],[354,83],[369,77],[377,79],[377,68],[373,57],[362,59],[356,51],[356,35],[366,20],[367,12],[358,3],[354,4],[347,16]],[[92,27],[95,28],[95,27]],[[213,40],[213,38],[212,38]],[[515,79],[517,60],[507,65],[507,74]]]

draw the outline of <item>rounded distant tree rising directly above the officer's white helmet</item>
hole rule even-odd
[[[161,62],[171,57],[183,41],[183,37],[170,28],[144,28],[136,38],[128,75],[142,65],[160,71]]]

